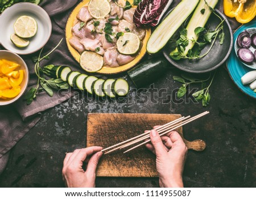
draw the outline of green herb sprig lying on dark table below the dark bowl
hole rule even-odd
[[[197,91],[192,94],[192,96],[195,98],[196,101],[202,101],[202,104],[204,107],[207,107],[210,102],[210,94],[209,94],[209,88],[212,85],[213,79],[215,77],[216,72],[214,74],[210,74],[210,76],[207,79],[197,79],[193,78],[191,75],[188,74],[181,74],[181,77],[174,76],[174,80],[177,82],[182,83],[182,86],[179,88],[179,91],[177,92],[177,97],[182,98],[187,93],[187,87],[191,84],[201,83],[201,90]],[[206,86],[206,83],[210,80],[210,83],[208,86]]]

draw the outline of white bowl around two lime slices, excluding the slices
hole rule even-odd
[[[31,16],[38,23],[38,32],[30,38],[30,45],[26,48],[18,48],[10,40],[11,34],[14,33],[13,25],[16,19],[22,15]],[[31,54],[38,51],[46,45],[52,32],[51,19],[47,12],[34,3],[16,3],[9,7],[3,11],[0,24],[3,29],[0,31],[0,43],[5,49],[17,54]]]

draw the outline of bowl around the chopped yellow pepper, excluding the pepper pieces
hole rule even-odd
[[[15,61],[15,62],[19,63],[20,66],[18,67],[18,70],[24,71],[23,81],[20,84],[20,87],[21,87],[20,94],[18,96],[16,96],[16,98],[12,98],[10,100],[0,99],[0,105],[7,105],[7,104],[14,103],[14,101],[18,100],[24,94],[24,92],[27,89],[30,77],[29,77],[28,67],[27,67],[26,63],[24,62],[24,60],[22,60],[22,58],[20,56],[18,56],[18,54],[7,51],[7,50],[0,50],[0,60],[1,59]]]

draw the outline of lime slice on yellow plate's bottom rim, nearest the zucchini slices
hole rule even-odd
[[[104,64],[103,57],[98,53],[85,51],[80,57],[80,66],[89,73],[95,73],[102,69]]]

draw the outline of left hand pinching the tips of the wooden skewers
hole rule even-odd
[[[65,156],[62,176],[66,187],[95,187],[96,168],[102,156],[102,147],[92,146],[77,149]],[[91,157],[88,157],[92,155]],[[86,170],[82,163],[86,164]]]

